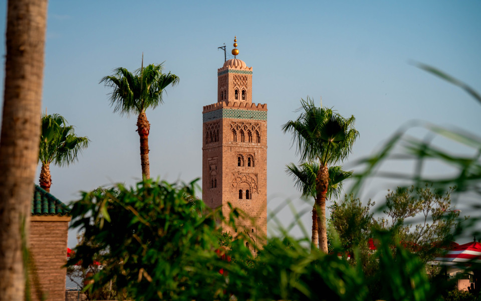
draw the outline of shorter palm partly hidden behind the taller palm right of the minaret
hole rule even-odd
[[[286,166],[286,173],[294,178],[295,186],[301,191],[302,197],[313,197],[316,200],[316,177],[319,173],[319,163],[304,162],[299,167],[294,163]],[[329,187],[326,198],[337,198],[341,195],[343,181],[352,176],[352,171],[345,172],[340,166],[329,167]],[[312,247],[318,245],[317,202],[312,208]]]

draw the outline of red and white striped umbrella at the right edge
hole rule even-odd
[[[479,263],[481,262],[481,243],[474,241],[453,246],[445,255],[436,257],[434,260],[440,261],[443,265]]]

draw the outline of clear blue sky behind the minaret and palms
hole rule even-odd
[[[142,52],[145,64],[165,62],[165,71],[180,77],[164,104],[147,111],[151,176],[200,177],[202,106],[216,102],[224,61],[217,47],[225,43],[230,52],[234,35],[237,58],[253,67],[253,101],[268,104],[271,209],[299,196],[284,172],[297,157],[281,125],[297,117],[294,110],[308,95],[357,118],[351,162],[411,119],[479,133],[479,103],[409,62],[435,66],[481,91],[480,15],[479,1],[51,0],[42,106],[92,140],[78,163],[51,167],[51,193],[69,203],[79,191],[140,179],[136,117],[113,113],[110,90],[99,80],[116,67],[139,68]],[[0,42],[5,45],[5,35]],[[293,219],[289,209],[279,217],[286,226]],[[303,221],[309,229],[309,214]]]

